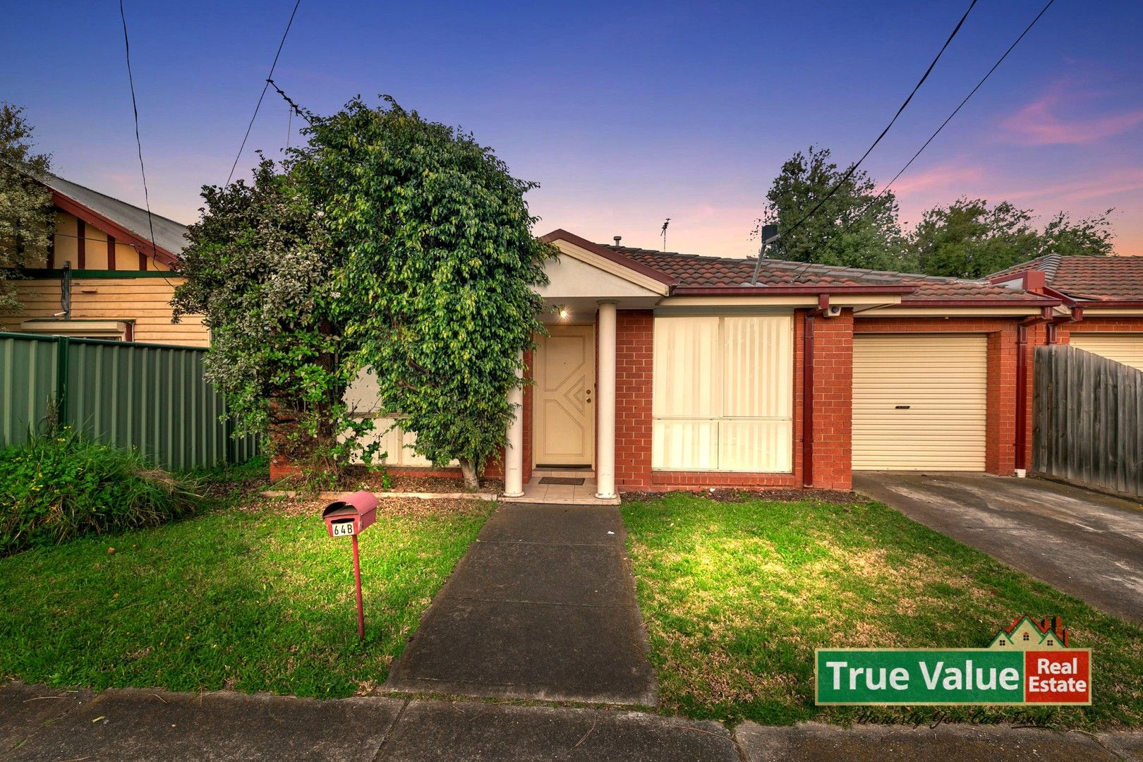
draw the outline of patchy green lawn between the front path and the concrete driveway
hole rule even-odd
[[[1143,724],[1143,631],[884,505],[673,494],[624,503],[623,519],[664,712]],[[815,648],[984,648],[1021,613],[1061,615],[1071,644],[1093,649],[1093,706],[814,706]]]

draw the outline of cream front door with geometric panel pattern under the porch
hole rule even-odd
[[[536,350],[536,465],[590,466],[596,450],[596,327],[549,326]]]

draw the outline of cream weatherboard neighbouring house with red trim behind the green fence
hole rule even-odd
[[[75,338],[207,346],[201,318],[170,322],[171,272],[186,244],[174,219],[62,177],[51,191],[56,230],[47,260],[9,281],[18,310],[0,312],[0,330]],[[151,226],[154,226],[154,243]]]

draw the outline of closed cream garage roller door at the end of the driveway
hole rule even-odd
[[[855,336],[855,471],[984,471],[984,336]]]

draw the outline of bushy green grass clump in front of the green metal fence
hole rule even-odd
[[[202,505],[198,480],[70,427],[0,450],[0,555],[158,527]]]

